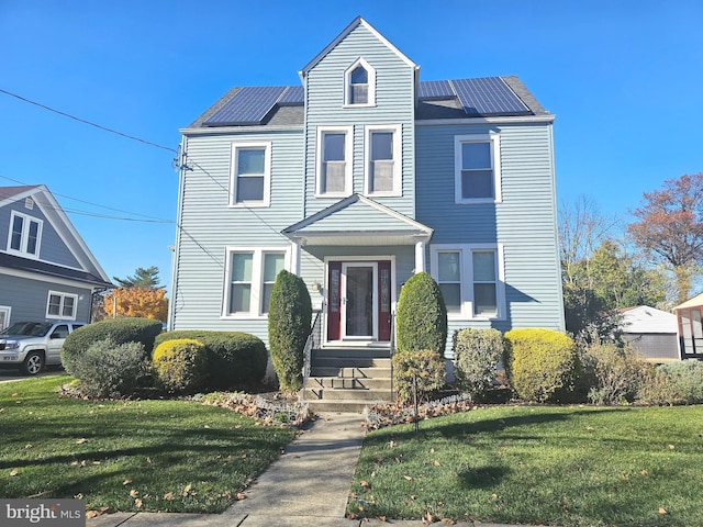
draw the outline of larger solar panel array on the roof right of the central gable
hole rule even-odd
[[[464,111],[469,115],[528,114],[529,109],[500,77],[453,80]]]

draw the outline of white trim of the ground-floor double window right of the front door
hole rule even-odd
[[[432,244],[431,266],[432,278],[437,283],[438,280],[438,257],[442,251],[459,251],[461,262],[461,311],[460,313],[448,313],[447,318],[450,321],[504,321],[506,319],[505,311],[505,267],[503,244]],[[480,250],[495,251],[496,283],[495,283],[495,310],[496,313],[491,316],[473,314],[473,258],[471,254]]]

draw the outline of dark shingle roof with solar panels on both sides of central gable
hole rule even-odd
[[[419,87],[416,120],[465,119],[480,116],[548,115],[542,104],[515,76],[477,79],[422,81]],[[274,90],[274,88],[271,88]],[[267,87],[232,88],[200,115],[189,128],[247,125],[302,125],[304,120],[302,87],[280,87],[278,100],[258,101],[253,93],[268,93]],[[282,92],[282,96],[280,94]],[[236,97],[239,94],[241,97]],[[270,96],[272,97],[272,96]],[[275,98],[274,98],[275,99]],[[232,117],[247,109],[238,104],[260,102],[268,111],[260,119],[239,122]],[[246,101],[246,102],[244,102]]]

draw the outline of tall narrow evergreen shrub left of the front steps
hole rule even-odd
[[[268,309],[268,341],[281,390],[303,384],[303,348],[310,334],[312,301],[302,278],[282,270],[276,277]]]

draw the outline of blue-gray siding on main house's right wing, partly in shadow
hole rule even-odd
[[[455,204],[455,136],[489,132],[501,137],[502,202]],[[416,220],[435,229],[431,246],[500,243],[504,249],[506,318],[450,321],[450,335],[461,327],[562,330],[551,126],[421,125],[416,139]]]

